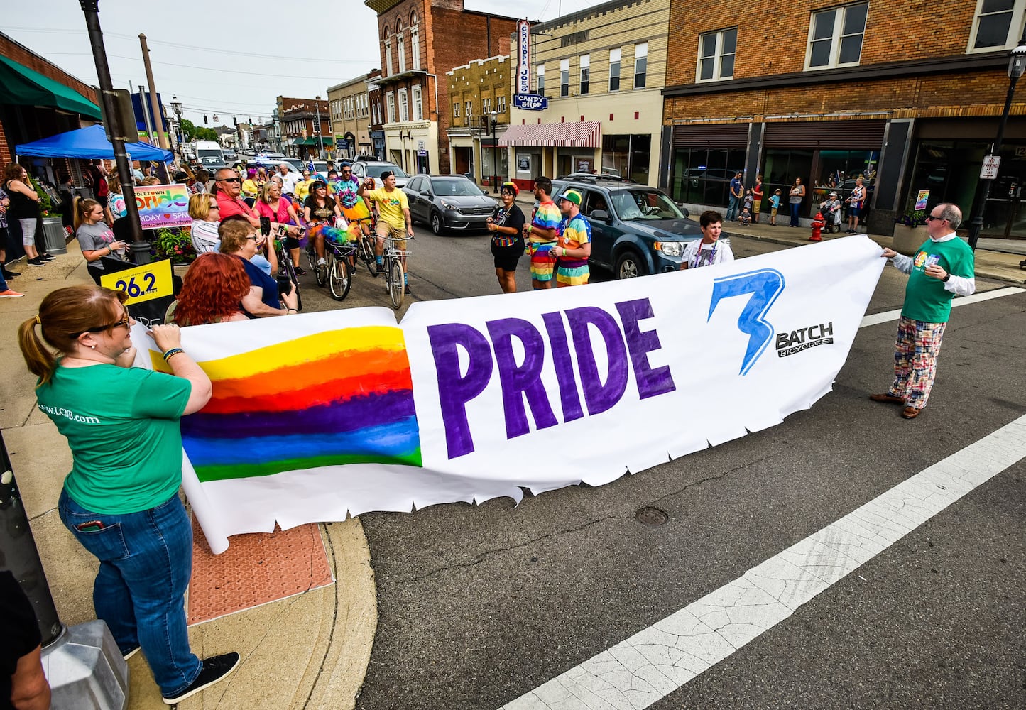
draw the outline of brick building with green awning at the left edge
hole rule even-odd
[[[0,169],[14,146],[100,123],[96,91],[63,69],[0,33]],[[56,183],[68,170],[82,185],[78,160],[24,158],[30,172]]]

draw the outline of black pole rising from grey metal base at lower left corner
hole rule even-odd
[[[50,587],[46,584],[39,550],[29,526],[29,515],[22,504],[14,472],[11,470],[7,446],[0,434],[0,561],[17,579],[25,595],[32,602],[39,624],[43,645],[48,645],[61,633]]]

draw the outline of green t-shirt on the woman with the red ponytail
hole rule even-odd
[[[72,452],[65,488],[95,513],[137,513],[182,484],[182,430],[192,384],[140,367],[58,366],[36,389]]]

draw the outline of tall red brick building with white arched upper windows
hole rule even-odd
[[[471,58],[509,54],[516,19],[463,0],[364,0],[378,13],[387,159],[407,172],[451,171],[448,84],[438,75]]]

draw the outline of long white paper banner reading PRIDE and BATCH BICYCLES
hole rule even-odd
[[[828,393],[884,266],[849,237],[588,286],[201,325],[184,485],[228,536],[608,483]],[[143,342],[142,339],[139,342]],[[163,366],[158,353],[152,364]]]

